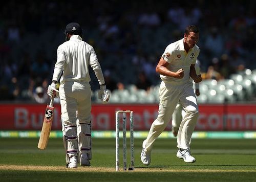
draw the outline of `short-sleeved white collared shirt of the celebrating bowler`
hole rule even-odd
[[[169,65],[167,66],[168,70],[172,72],[177,72],[179,69],[183,69],[184,77],[174,78],[160,74],[160,77],[163,81],[172,82],[175,85],[184,84],[189,81],[190,65],[196,63],[200,50],[199,47],[195,45],[194,48],[190,49],[188,53],[186,53],[183,41],[184,38],[169,44],[166,47],[162,58],[169,63]]]

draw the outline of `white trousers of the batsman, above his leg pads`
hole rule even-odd
[[[76,126],[91,121],[91,86],[88,82],[66,81],[59,86],[62,123]]]

